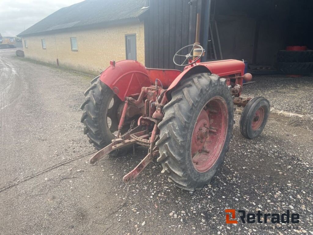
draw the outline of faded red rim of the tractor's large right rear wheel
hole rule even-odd
[[[206,172],[218,160],[227,137],[228,107],[222,97],[213,97],[200,111],[191,140],[191,160],[198,172]]]

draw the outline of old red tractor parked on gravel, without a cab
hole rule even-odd
[[[128,146],[148,147],[144,159],[123,178],[135,179],[152,159],[177,187],[202,189],[223,163],[232,138],[234,105],[243,106],[240,130],[256,138],[269,116],[263,97],[241,97],[244,63],[239,60],[200,62],[198,44],[183,47],[173,61],[183,72],[151,69],[134,60],[111,60],[91,81],[81,109],[84,133],[100,149],[91,159]],[[121,152],[120,152],[121,154]]]

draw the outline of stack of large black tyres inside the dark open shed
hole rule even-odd
[[[313,50],[280,50],[277,62],[282,74],[310,75],[313,73]]]

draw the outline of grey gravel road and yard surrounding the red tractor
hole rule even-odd
[[[33,63],[0,50],[0,234],[313,234],[313,79],[267,77],[244,87],[269,95],[275,108],[305,118],[270,115],[254,140],[239,131],[240,114],[225,163],[201,191],[176,188],[152,162],[136,180],[122,177],[145,155],[102,159],[90,165],[95,149],[83,135],[80,104],[92,77]],[[283,86],[292,81],[295,86]],[[307,88],[299,83],[305,82]],[[266,91],[263,93],[263,91]],[[309,93],[306,93],[309,92]],[[277,94],[279,101],[275,102]],[[286,96],[284,94],[287,94]],[[305,103],[306,102],[306,103]],[[286,106],[285,106],[286,104]],[[300,214],[288,224],[226,224],[227,208],[247,213]]]

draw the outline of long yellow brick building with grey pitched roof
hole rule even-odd
[[[61,8],[26,29],[26,58],[92,73],[110,60],[145,64],[144,0],[86,0]]]

